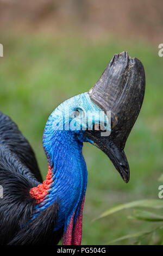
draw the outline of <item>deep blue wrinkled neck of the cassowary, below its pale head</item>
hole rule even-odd
[[[76,209],[76,221],[86,191],[87,169],[82,154],[83,143],[76,140],[72,131],[54,131],[53,114],[49,117],[43,134],[43,148],[52,169],[52,184],[48,194],[37,206],[37,212],[54,202],[59,203],[55,230],[64,223],[66,229]]]

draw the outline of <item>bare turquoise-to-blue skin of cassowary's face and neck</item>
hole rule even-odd
[[[84,112],[84,115],[83,115]],[[43,202],[37,205],[36,214],[54,202],[59,203],[58,219],[54,230],[66,230],[75,211],[74,223],[85,196],[87,169],[82,154],[85,129],[93,124],[106,123],[102,109],[90,100],[87,93],[79,94],[61,103],[48,118],[43,133],[43,148],[48,165],[52,168],[53,182]],[[93,114],[93,121],[92,121]],[[85,120],[83,123],[82,120]],[[82,124],[81,124],[82,123]],[[83,130],[82,130],[83,129]],[[107,125],[107,130],[110,126]]]

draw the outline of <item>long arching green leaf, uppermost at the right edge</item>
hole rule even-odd
[[[161,209],[163,208],[163,201],[161,199],[146,199],[146,200],[138,200],[133,201],[126,204],[120,204],[115,207],[110,208],[109,210],[103,212],[98,218],[106,217],[110,214],[114,214],[114,212],[121,211],[123,209],[134,208],[134,207],[146,207],[146,208],[153,208],[153,209]]]

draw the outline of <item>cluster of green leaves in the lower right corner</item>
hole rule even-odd
[[[161,176],[162,177],[162,176]],[[159,181],[161,180],[161,177]],[[139,200],[133,201],[126,204],[121,204],[110,208],[109,210],[105,211],[99,218],[104,218],[108,215],[115,214],[117,211],[121,211],[123,209],[129,208],[151,208],[151,209],[162,209],[163,202],[161,199],[146,199],[146,200]],[[160,212],[162,214],[162,211]],[[139,220],[142,222],[159,222],[158,227],[151,228],[149,231],[139,231],[134,234],[124,235],[122,237],[118,237],[117,239],[109,241],[107,244],[110,245],[112,243],[121,242],[122,240],[130,240],[133,237],[136,237],[136,241],[134,244],[141,245],[145,243],[146,245],[162,245],[163,243],[163,215],[158,215],[155,212],[149,212],[145,210],[134,210],[133,214],[128,216],[128,218],[133,220]],[[161,222],[161,223],[160,223]],[[150,226],[150,225],[149,225]],[[158,234],[159,233],[159,234]],[[157,237],[156,237],[157,236]]]

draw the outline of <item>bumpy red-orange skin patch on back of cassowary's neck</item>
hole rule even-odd
[[[43,201],[43,198],[47,195],[52,182],[53,182],[52,170],[51,170],[51,167],[48,166],[48,173],[46,175],[46,180],[44,180],[42,184],[39,184],[37,187],[31,188],[29,191],[30,196],[36,199],[37,204]]]

